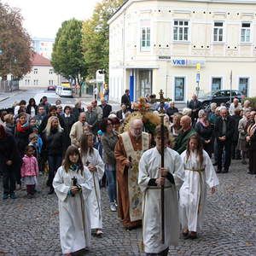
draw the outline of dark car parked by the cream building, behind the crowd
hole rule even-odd
[[[241,97],[243,94],[241,93],[240,90],[231,90],[231,97],[232,97],[232,102],[234,98],[239,99],[241,102]],[[230,90],[217,90],[217,91],[211,91],[207,93],[204,96],[201,96],[198,98],[198,100],[202,104],[202,108],[209,108],[210,104],[212,102],[216,102],[217,105],[219,106],[221,103],[224,104],[229,104],[230,103]]]

